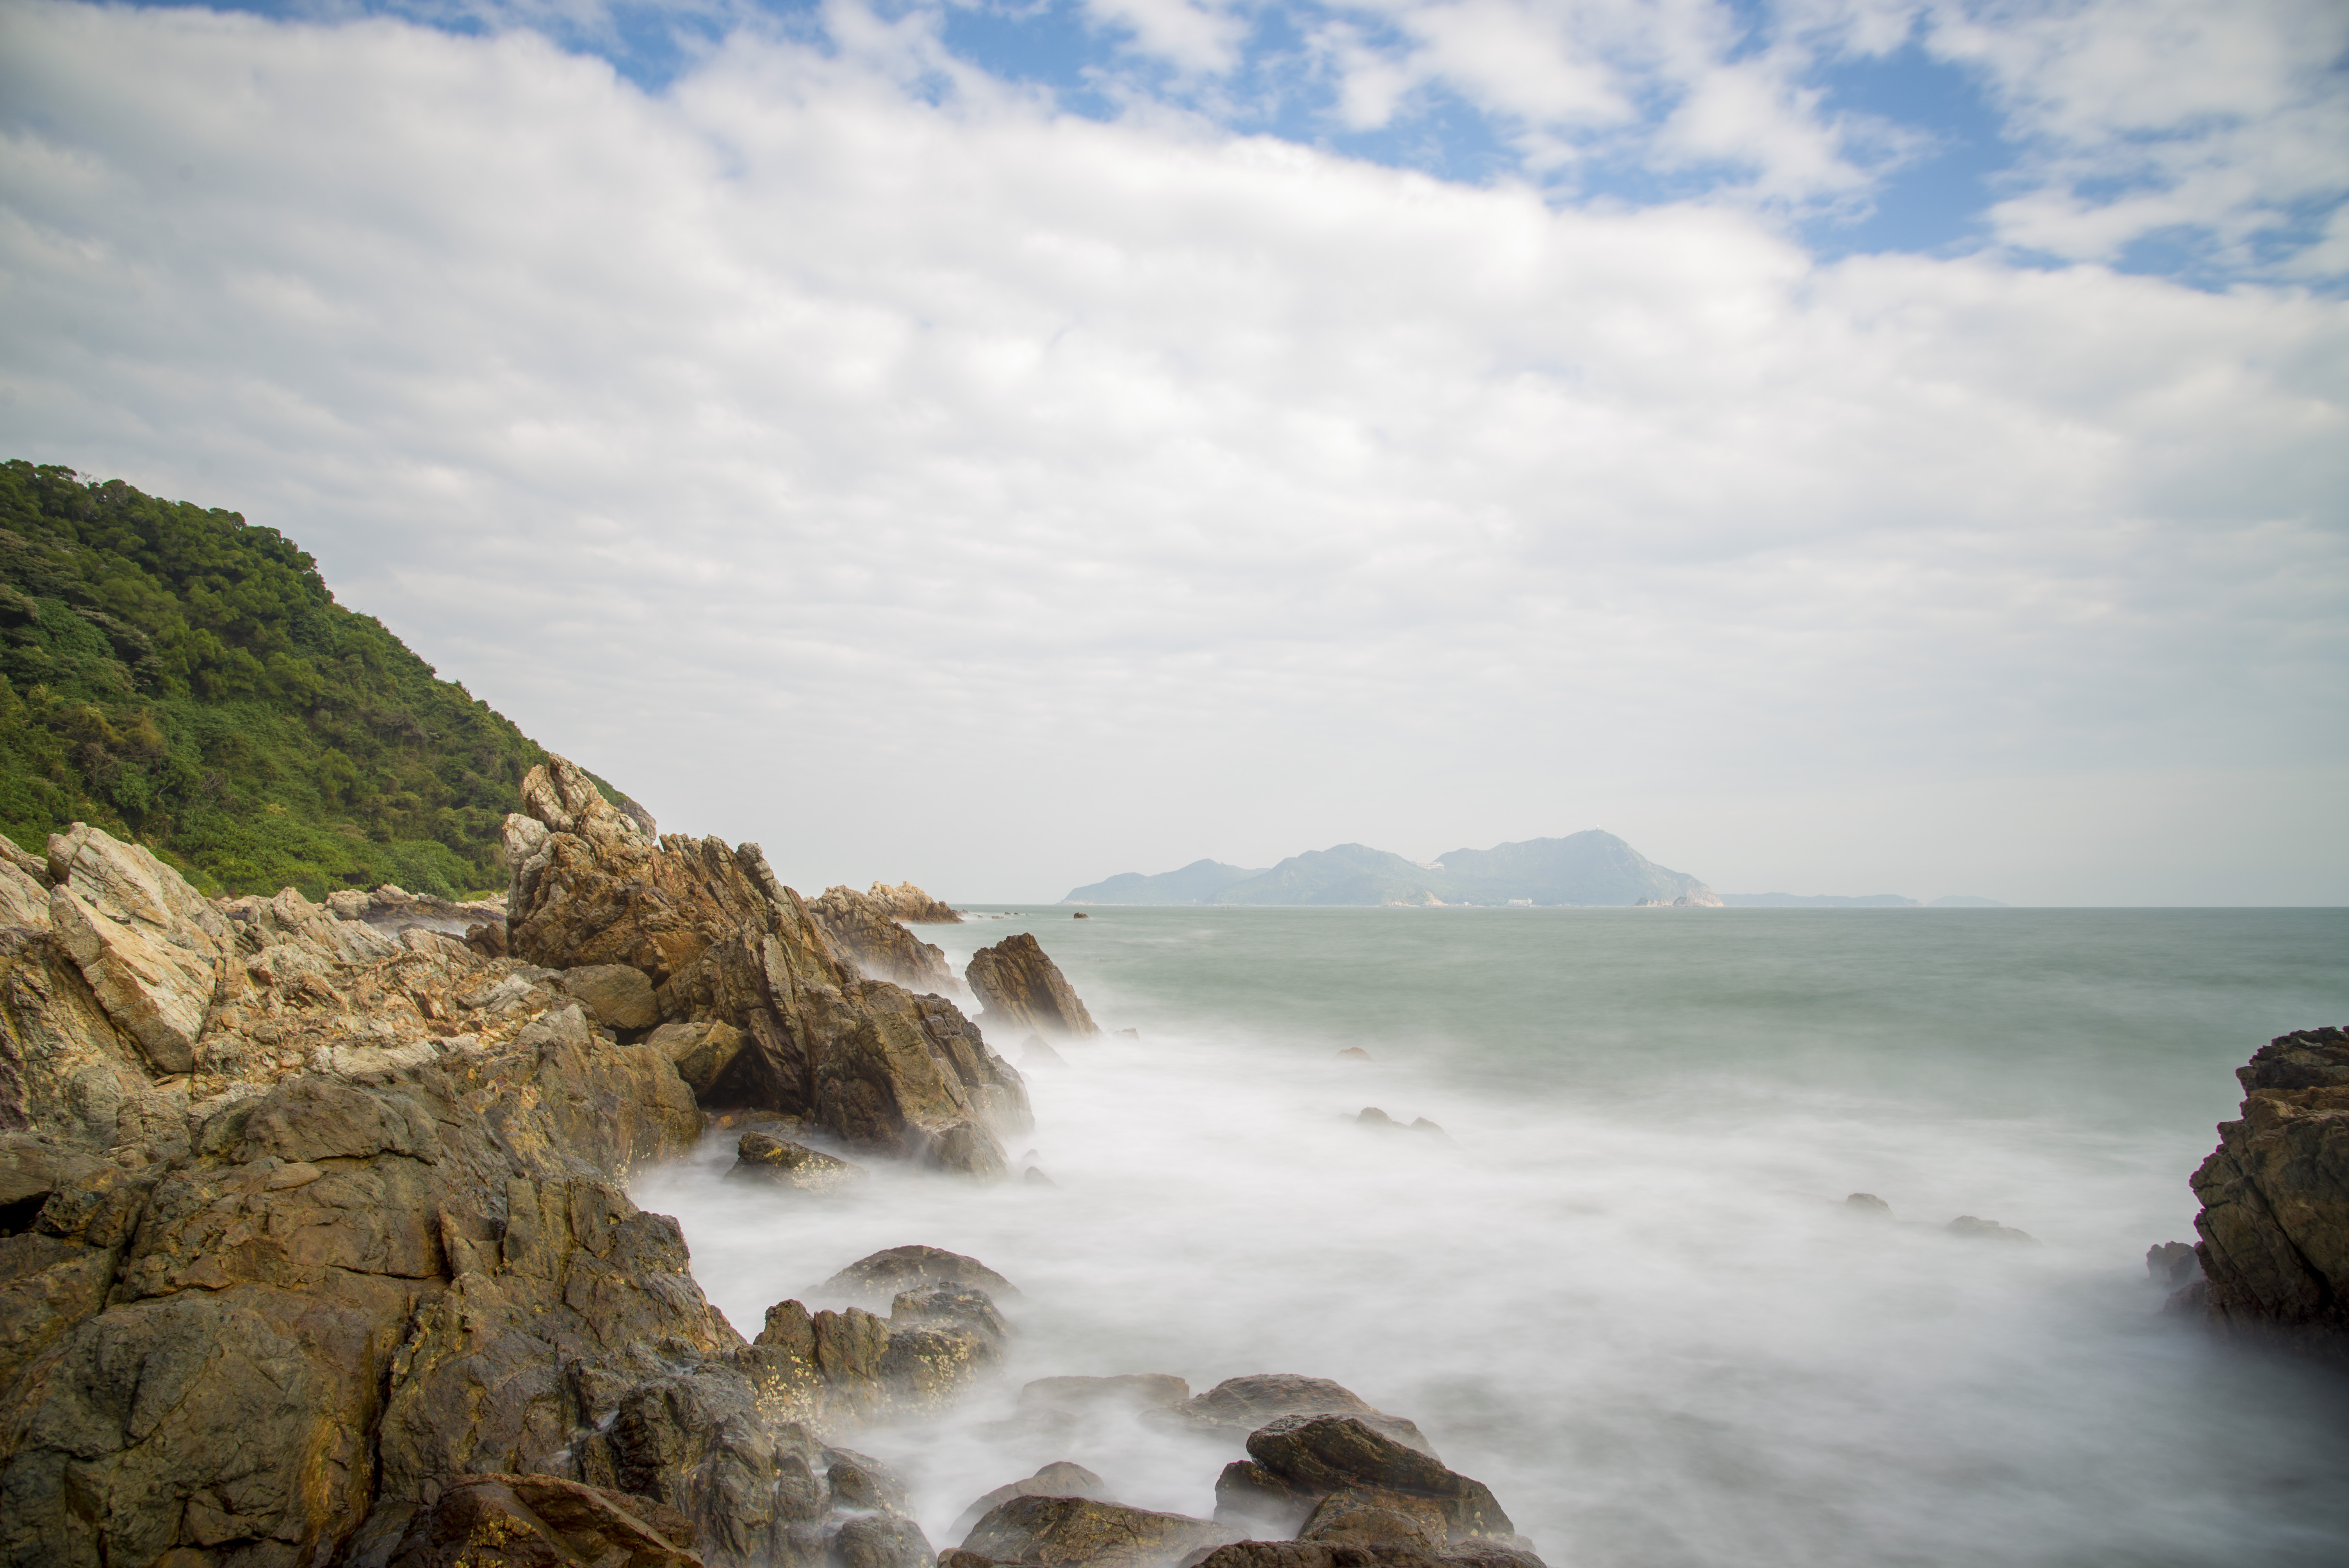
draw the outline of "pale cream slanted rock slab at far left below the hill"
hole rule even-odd
[[[228,922],[141,845],[75,822],[49,838],[49,927],[162,1073],[195,1066]]]

